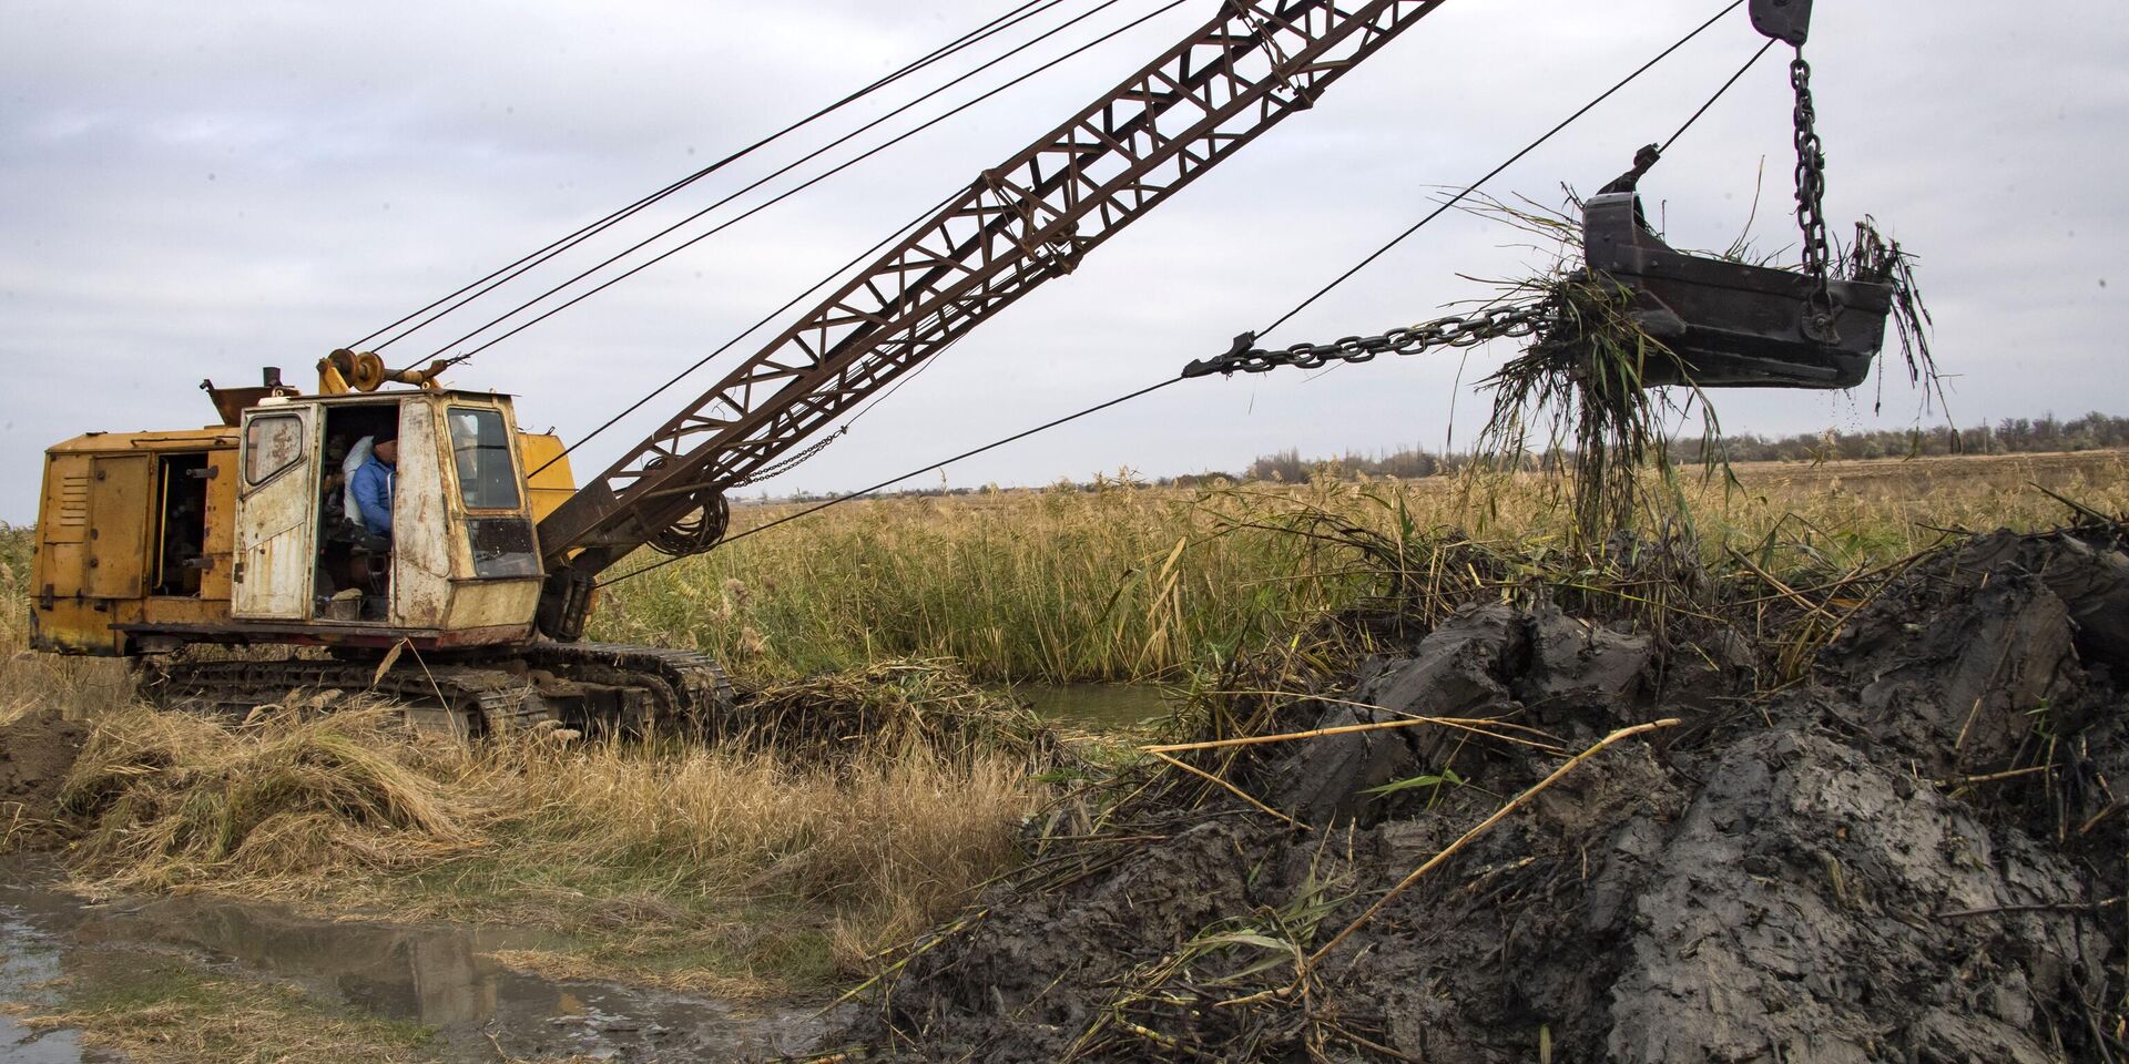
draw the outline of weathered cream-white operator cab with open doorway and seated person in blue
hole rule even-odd
[[[424,645],[528,634],[541,562],[509,398],[266,396],[241,419],[238,621]]]

